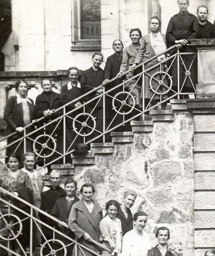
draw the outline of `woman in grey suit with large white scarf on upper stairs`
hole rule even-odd
[[[158,16],[152,16],[150,18],[151,32],[149,35],[144,35],[144,37],[142,38],[140,49],[134,60],[134,65],[132,66],[133,68],[136,65],[140,64],[141,62],[147,61],[148,59],[152,58],[153,56],[159,53],[164,52],[167,49],[165,35],[159,32],[160,29],[161,29],[161,20],[158,18]],[[149,67],[152,67],[153,65],[163,60],[165,60],[165,55],[161,55],[153,59],[152,61],[148,62],[147,64],[145,64],[144,69],[148,69]],[[162,65],[162,70],[163,70],[163,67],[164,65]],[[147,74],[144,75],[144,95],[142,95],[142,97],[144,97],[145,99],[145,107],[149,104],[150,99],[152,99],[151,101],[152,104],[156,104],[160,99],[160,94],[154,93],[151,90],[149,85],[151,76],[158,71],[160,71],[159,66],[147,72],[147,74],[149,75]],[[156,75],[154,78],[157,80],[162,80],[161,75]],[[158,92],[163,92],[168,89],[167,79],[164,79],[164,85],[162,87],[158,84],[158,81],[156,81],[155,79],[152,79],[151,86],[153,90]],[[142,93],[143,93],[143,89],[142,89]],[[166,94],[162,96],[162,99],[164,98],[167,98]],[[161,109],[165,109],[166,104],[167,103],[162,104]]]

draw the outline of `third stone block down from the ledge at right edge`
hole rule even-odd
[[[215,170],[215,153],[194,154],[194,171]]]

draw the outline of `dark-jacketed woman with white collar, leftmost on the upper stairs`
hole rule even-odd
[[[33,120],[34,104],[33,100],[27,97],[28,84],[24,80],[19,80],[15,83],[15,89],[17,91],[16,96],[11,96],[5,105],[4,119],[7,123],[6,133],[11,134],[17,132],[13,136],[8,138],[8,144],[14,142],[23,135],[24,126],[28,125]],[[6,155],[11,152],[18,152],[20,156],[23,155],[23,143],[13,144],[6,149]],[[18,148],[17,148],[18,146]],[[32,143],[26,140],[26,151],[32,150]],[[20,163],[21,164],[21,163]]]

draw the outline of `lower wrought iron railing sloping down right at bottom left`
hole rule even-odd
[[[83,256],[85,256],[83,249],[89,251],[92,255],[100,255],[98,252],[80,244],[76,239],[72,239],[65,232],[44,223],[38,219],[38,214],[46,216],[56,226],[60,225],[69,229],[65,222],[59,221],[59,219],[27,203],[2,187],[0,187],[0,195],[2,195],[0,197],[0,249],[2,248],[17,256],[33,256],[35,255],[35,240],[42,237],[42,244],[39,247],[40,256],[66,256],[68,249],[71,250],[71,247],[74,256],[77,256],[77,249],[81,251]],[[10,199],[8,200],[8,198]],[[21,209],[17,206],[17,202],[21,202],[25,207]],[[23,232],[25,232],[24,235],[27,239],[23,239]],[[108,248],[99,242],[93,239],[90,242],[111,253]]]

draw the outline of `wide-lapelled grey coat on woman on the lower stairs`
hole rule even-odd
[[[98,252],[98,247],[92,242],[84,240],[83,235],[85,232],[87,232],[93,240],[99,241],[99,224],[102,218],[102,208],[99,203],[93,201],[93,210],[92,213],[90,213],[82,199],[72,206],[71,212],[69,214],[68,225],[75,236],[78,238],[78,242]],[[84,250],[84,253],[86,256],[94,255],[87,250]],[[78,256],[79,255],[83,255],[80,250],[78,250]]]

